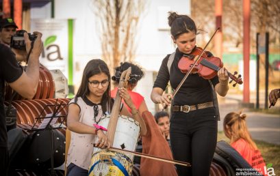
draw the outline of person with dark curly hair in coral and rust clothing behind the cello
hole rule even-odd
[[[129,67],[131,67],[131,76],[127,84],[127,91],[131,96],[133,104],[139,111],[140,116],[144,119],[147,127],[147,134],[142,136],[142,153],[173,160],[170,147],[167,141],[164,140],[164,136],[162,135],[160,128],[157,127],[155,118],[149,112],[144,97],[141,96],[140,93],[133,91],[133,89],[137,86],[138,81],[144,76],[144,72],[140,66],[134,63],[125,62],[120,63],[120,66],[115,68],[116,72],[112,79],[115,80],[116,88],[111,91],[111,97],[116,97],[116,93],[118,92],[117,85],[120,81],[120,74]],[[125,102],[123,104],[127,107]],[[127,109],[129,111],[129,107]],[[140,175],[177,176],[177,173],[174,164],[152,160],[149,158],[141,158]]]

